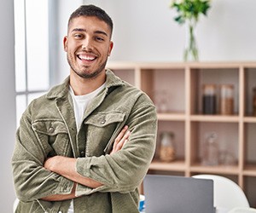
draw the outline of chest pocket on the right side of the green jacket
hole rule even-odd
[[[101,112],[84,121],[87,128],[86,156],[101,156],[119,126],[125,122],[125,112]]]

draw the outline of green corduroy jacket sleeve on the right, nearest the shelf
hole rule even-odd
[[[154,156],[157,132],[155,107],[146,95],[142,95],[134,105],[126,124],[131,135],[119,152],[78,158],[76,170],[79,174],[104,185],[95,189],[78,185],[77,196],[94,192],[128,193],[141,184]]]

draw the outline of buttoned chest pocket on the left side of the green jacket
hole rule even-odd
[[[32,124],[32,129],[43,147],[46,157],[68,156],[71,149],[66,125],[62,120],[41,119]]]

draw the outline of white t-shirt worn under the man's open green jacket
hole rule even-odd
[[[83,121],[84,111],[89,105],[90,101],[98,95],[98,93],[105,87],[105,83],[102,84],[98,89],[86,95],[74,95],[73,89],[70,86],[69,92],[73,99],[73,110],[76,118],[77,130],[80,129],[80,126]],[[73,201],[71,202],[67,213],[73,213]]]

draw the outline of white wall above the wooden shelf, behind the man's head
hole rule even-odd
[[[176,12],[169,8],[171,0],[76,1],[80,2],[96,4],[113,18],[110,60],[183,61],[185,26],[173,20]],[[211,4],[196,28],[200,60],[255,60],[256,1],[212,0]],[[67,16],[64,11],[63,15]]]

